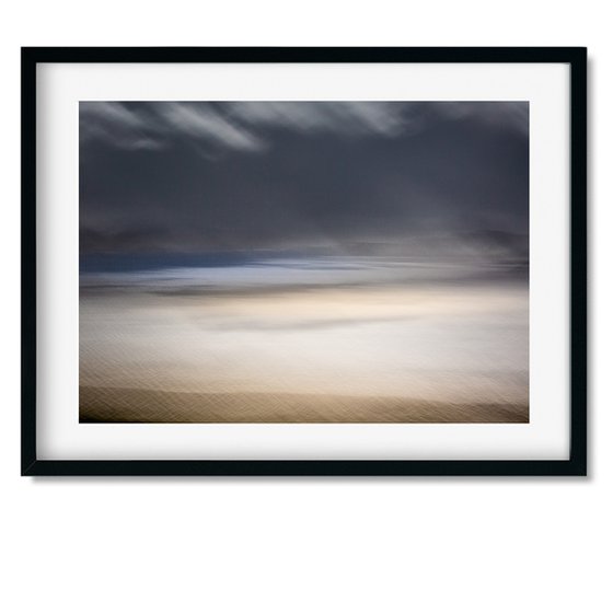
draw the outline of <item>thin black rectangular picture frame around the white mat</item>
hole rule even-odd
[[[583,47],[22,48],[22,475],[586,475],[587,49]],[[36,68],[41,62],[556,62],[570,67],[570,449],[568,460],[39,460],[36,452]]]

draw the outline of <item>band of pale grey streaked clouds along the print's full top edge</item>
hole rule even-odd
[[[528,131],[522,102],[83,102],[82,141],[119,149],[162,149],[177,136],[196,146],[262,151],[266,129],[301,134],[395,138],[440,122],[472,118],[521,134]]]

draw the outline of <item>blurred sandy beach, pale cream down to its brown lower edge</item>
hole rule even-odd
[[[80,419],[527,421],[525,323],[521,284],[83,292]]]

